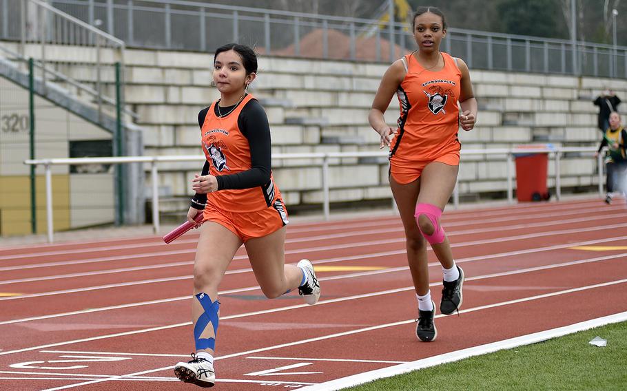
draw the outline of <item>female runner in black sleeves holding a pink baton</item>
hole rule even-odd
[[[278,297],[298,288],[307,304],[316,304],[320,285],[309,260],[285,264],[287,211],[271,173],[268,118],[251,94],[257,58],[245,45],[218,47],[213,81],[220,99],[198,114],[207,157],[187,220],[203,213],[194,261],[192,320],[196,353],[174,367],[178,379],[212,387],[220,303],[218,286],[236,251],[244,244],[264,295]]]

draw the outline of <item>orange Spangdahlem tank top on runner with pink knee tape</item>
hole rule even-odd
[[[460,72],[455,59],[442,53],[440,71],[424,69],[413,54],[407,54],[407,73],[396,92],[400,104],[398,133],[390,145],[390,160],[431,162],[446,154],[457,154]]]

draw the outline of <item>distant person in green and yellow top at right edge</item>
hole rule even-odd
[[[621,125],[621,116],[617,112],[610,114],[610,126],[603,134],[603,140],[599,145],[599,150],[595,156],[599,155],[599,152],[603,147],[608,147],[606,152],[606,187],[607,195],[605,202],[612,203],[613,193],[625,193],[626,181],[627,181],[627,154],[625,148],[627,146],[627,131]]]

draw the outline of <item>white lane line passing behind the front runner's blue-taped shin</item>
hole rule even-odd
[[[624,256],[624,255],[622,255]],[[618,257],[618,255],[610,255],[610,257]],[[594,258],[595,260],[603,260],[606,257],[598,257],[598,258]],[[585,260],[580,260],[580,261],[575,261],[578,263],[584,263]],[[570,266],[570,264],[573,264],[573,262],[566,262],[567,265],[566,266]],[[535,271],[535,270],[544,270],[544,269],[548,269],[548,268],[555,268],[555,267],[560,267],[562,265],[546,265],[546,266],[539,266],[537,268],[529,268],[528,271]],[[503,272],[503,273],[494,273],[491,275],[487,275],[487,276],[475,276],[475,277],[469,277],[467,280],[476,280],[476,279],[482,279],[482,278],[491,278],[491,277],[502,277],[504,275],[513,275],[513,274],[520,274],[520,273],[527,273],[528,272],[526,269],[522,269],[520,271],[513,271],[513,272]],[[627,279],[622,279],[619,280],[618,282],[613,282],[613,283],[604,283],[606,285],[610,285],[610,284],[618,284],[619,282],[626,282]],[[442,282],[432,282],[431,284],[429,284],[429,286],[438,286],[442,284]],[[604,284],[596,284],[593,287],[597,287],[597,286],[606,286]],[[402,292],[404,290],[411,290],[413,289],[413,286],[406,286],[403,288],[395,288],[395,289],[389,289],[389,290],[382,290],[380,292],[373,292],[373,293],[364,293],[364,294],[360,294],[360,295],[352,295],[352,296],[347,296],[347,297],[338,297],[336,299],[328,299],[328,300],[322,300],[320,302],[318,302],[318,304],[316,304],[317,306],[320,305],[324,305],[324,304],[331,304],[331,303],[337,303],[337,302],[346,302],[349,300],[354,300],[354,299],[363,299],[366,297],[373,297],[373,296],[380,296],[380,295],[387,295],[390,293],[399,293]],[[577,291],[578,288],[575,288],[575,290],[572,290],[573,292]],[[561,292],[568,292],[570,290],[562,290]],[[218,293],[219,294],[219,293]],[[548,293],[546,295],[553,295],[553,293]],[[538,295],[537,297],[544,297],[544,295]],[[546,296],[548,297],[548,296]],[[187,299],[189,299],[189,297],[187,297]],[[513,301],[516,302],[516,301]],[[242,318],[242,317],[250,317],[250,316],[255,316],[255,315],[266,315],[269,313],[278,313],[278,312],[283,312],[286,310],[293,310],[296,308],[305,308],[309,306],[309,304],[296,304],[294,306],[285,306],[285,307],[278,307],[278,308],[270,308],[267,310],[259,310],[259,311],[253,311],[250,313],[241,313],[241,314],[236,314],[236,315],[228,315],[225,317],[220,317],[220,321],[225,321],[228,319],[238,319],[238,318]],[[477,307],[479,308],[479,307]],[[489,308],[489,307],[486,307]],[[468,312],[470,310],[461,310],[460,313],[462,313],[462,311]],[[438,317],[438,315],[436,315],[436,317]],[[45,348],[52,348],[54,346],[63,346],[63,345],[68,345],[68,344],[78,344],[81,342],[88,342],[88,341],[97,341],[100,339],[108,339],[108,338],[115,338],[115,337],[123,337],[126,335],[136,335],[136,334],[141,334],[143,332],[152,332],[152,331],[158,331],[158,330],[167,330],[169,328],[177,328],[177,327],[182,327],[182,326],[189,326],[191,325],[192,322],[191,321],[186,321],[183,323],[178,323],[178,324],[171,324],[171,325],[166,325],[166,326],[157,326],[157,327],[151,327],[151,328],[145,328],[145,329],[141,329],[141,330],[131,330],[131,331],[125,331],[125,332],[116,332],[114,334],[109,334],[109,335],[99,335],[96,337],[87,337],[87,338],[83,338],[83,339],[74,339],[72,341],[63,341],[63,342],[55,342],[54,344],[46,344],[46,345],[40,345],[40,346],[32,346],[30,348],[21,348],[21,349],[16,349],[16,350],[7,350],[6,352],[0,352],[0,356],[3,355],[11,355],[13,353],[19,353],[19,352],[28,352],[30,350],[38,350],[38,349],[45,349]],[[254,353],[257,352],[255,351],[251,351],[249,353]]]

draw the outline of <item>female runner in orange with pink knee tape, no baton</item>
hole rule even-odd
[[[446,36],[444,14],[435,7],[418,8],[412,25],[418,50],[395,61],[385,72],[369,122],[381,136],[381,147],[390,147],[390,187],[404,226],[418,298],[416,336],[433,341],[438,331],[433,322],[435,304],[429,290],[426,242],[442,264],[440,312],[450,315],[462,305],[464,271],[455,265],[440,216],[458,176],[458,128],[473,129],[477,101],[466,63],[440,52]],[[400,117],[397,127],[389,127],[383,114],[394,94],[400,103]]]

